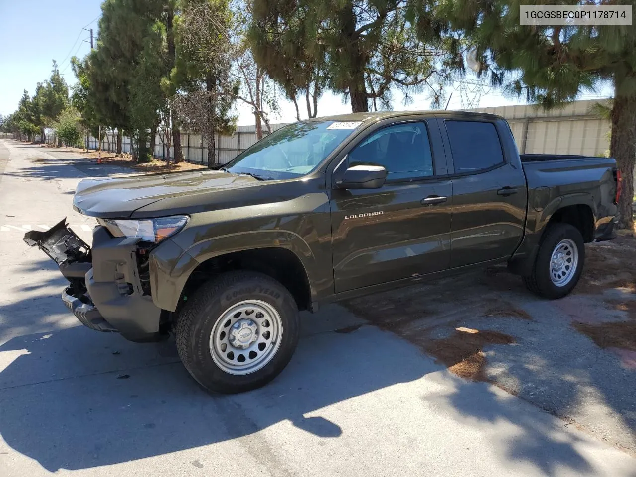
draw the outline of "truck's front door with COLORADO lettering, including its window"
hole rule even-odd
[[[336,293],[449,266],[452,184],[435,176],[436,156],[443,160],[436,121],[408,121],[370,132],[338,167],[382,165],[387,181],[331,190]]]

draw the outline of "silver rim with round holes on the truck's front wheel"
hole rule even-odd
[[[221,314],[210,335],[210,354],[226,373],[247,375],[269,363],[280,346],[282,321],[272,305],[244,300]]]

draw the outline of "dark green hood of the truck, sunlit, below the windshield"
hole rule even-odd
[[[220,170],[84,179],[75,191],[73,209],[87,216],[126,218],[140,207],[164,198],[237,189],[258,182],[251,176]]]

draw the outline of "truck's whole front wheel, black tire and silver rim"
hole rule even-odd
[[[224,273],[186,302],[176,338],[181,361],[205,389],[249,391],[289,363],[298,343],[298,307],[267,275]]]

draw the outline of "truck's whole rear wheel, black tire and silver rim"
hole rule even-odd
[[[556,223],[546,230],[532,273],[523,277],[523,281],[530,291],[543,298],[562,298],[579,281],[584,260],[581,232],[572,225]]]

